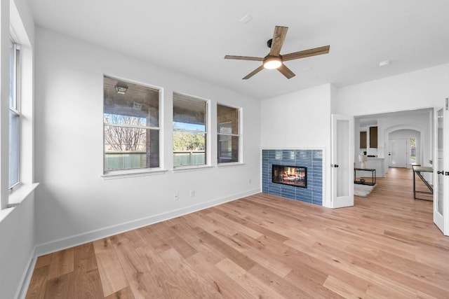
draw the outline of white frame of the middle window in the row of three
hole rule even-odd
[[[204,113],[204,131],[198,131],[198,130],[185,130],[185,129],[176,129],[175,128],[175,95],[180,95],[182,97],[187,97],[191,99],[192,101],[197,102],[203,102],[205,107],[205,113]],[[193,95],[187,95],[182,92],[173,92],[173,122],[172,122],[172,141],[174,140],[174,134],[175,132],[188,132],[188,133],[198,133],[201,132],[204,134],[204,163],[198,164],[198,165],[175,165],[175,149],[174,149],[174,142],[172,142],[172,161],[173,161],[173,170],[182,170],[182,169],[198,169],[198,168],[206,168],[210,167],[210,100],[209,99],[203,99],[201,97],[196,97]]]

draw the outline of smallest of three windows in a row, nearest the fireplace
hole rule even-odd
[[[217,104],[218,163],[239,162],[240,109]]]

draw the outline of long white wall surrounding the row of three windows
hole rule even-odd
[[[103,74],[163,88],[165,174],[102,179]],[[214,167],[176,173],[171,169],[173,91],[210,99]],[[244,165],[216,167],[217,102],[243,108]],[[260,102],[255,99],[36,29],[38,253],[260,192],[259,123]],[[195,197],[189,197],[190,190]]]

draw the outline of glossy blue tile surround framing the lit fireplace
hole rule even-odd
[[[307,167],[307,188],[272,183],[272,165]],[[262,150],[262,192],[323,204],[322,150]]]

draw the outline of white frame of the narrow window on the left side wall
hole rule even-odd
[[[9,163],[8,163],[8,189],[10,191],[17,189],[21,185],[21,155],[20,155],[20,149],[21,149],[21,139],[22,139],[22,114],[20,113],[21,108],[21,60],[20,60],[20,44],[15,41],[12,34],[10,36],[10,41],[13,46],[13,60],[10,60],[12,62],[13,67],[11,70],[13,71],[13,74],[10,77],[10,95],[13,95],[13,103],[11,103],[11,99],[8,102],[8,117],[9,117],[9,132],[11,134],[11,113],[13,113],[15,116],[18,117],[18,127],[15,128],[15,132],[18,132],[18,136],[15,138],[17,140],[17,146],[15,148],[15,160],[16,162],[13,164],[11,160],[12,152],[11,152],[11,136],[8,140],[8,148],[9,148]],[[13,81],[13,82],[11,82]],[[12,105],[11,105],[12,104]],[[13,131],[14,132],[14,131]],[[15,165],[15,173],[17,173],[17,177],[15,178],[15,181],[13,181],[12,184],[10,184],[11,181],[11,167],[12,165]]]

